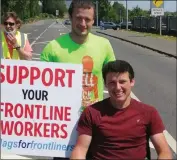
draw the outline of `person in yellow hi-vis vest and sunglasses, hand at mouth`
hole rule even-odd
[[[3,18],[1,32],[1,58],[31,60],[32,48],[27,34],[19,32],[21,20],[15,12],[7,12]]]

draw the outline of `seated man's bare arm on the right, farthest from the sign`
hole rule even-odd
[[[163,133],[158,133],[150,137],[158,154],[158,159],[172,159],[172,153]]]

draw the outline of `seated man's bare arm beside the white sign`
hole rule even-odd
[[[89,135],[79,135],[70,159],[86,159],[86,154],[90,146],[91,140],[92,137]]]

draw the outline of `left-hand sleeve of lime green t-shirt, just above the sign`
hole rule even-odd
[[[48,43],[40,54],[40,60],[46,62],[54,62],[53,47],[51,42]]]

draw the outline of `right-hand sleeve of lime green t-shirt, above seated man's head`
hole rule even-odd
[[[111,43],[108,40],[106,43],[106,58],[105,58],[104,64],[110,61],[114,61],[114,60],[115,60],[114,50],[111,46]]]

